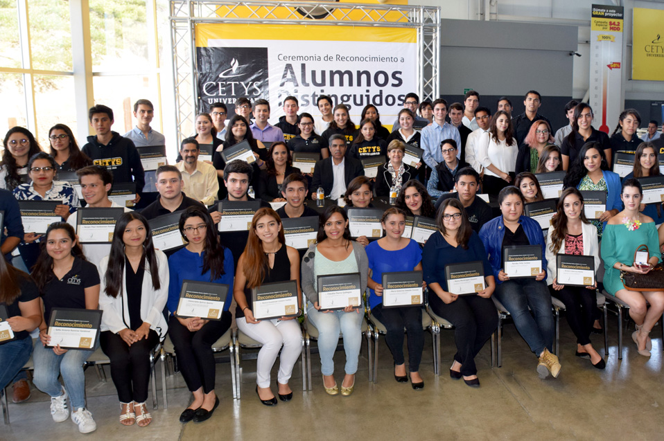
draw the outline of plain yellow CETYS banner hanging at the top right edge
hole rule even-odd
[[[664,81],[664,10],[634,8],[632,80]]]

